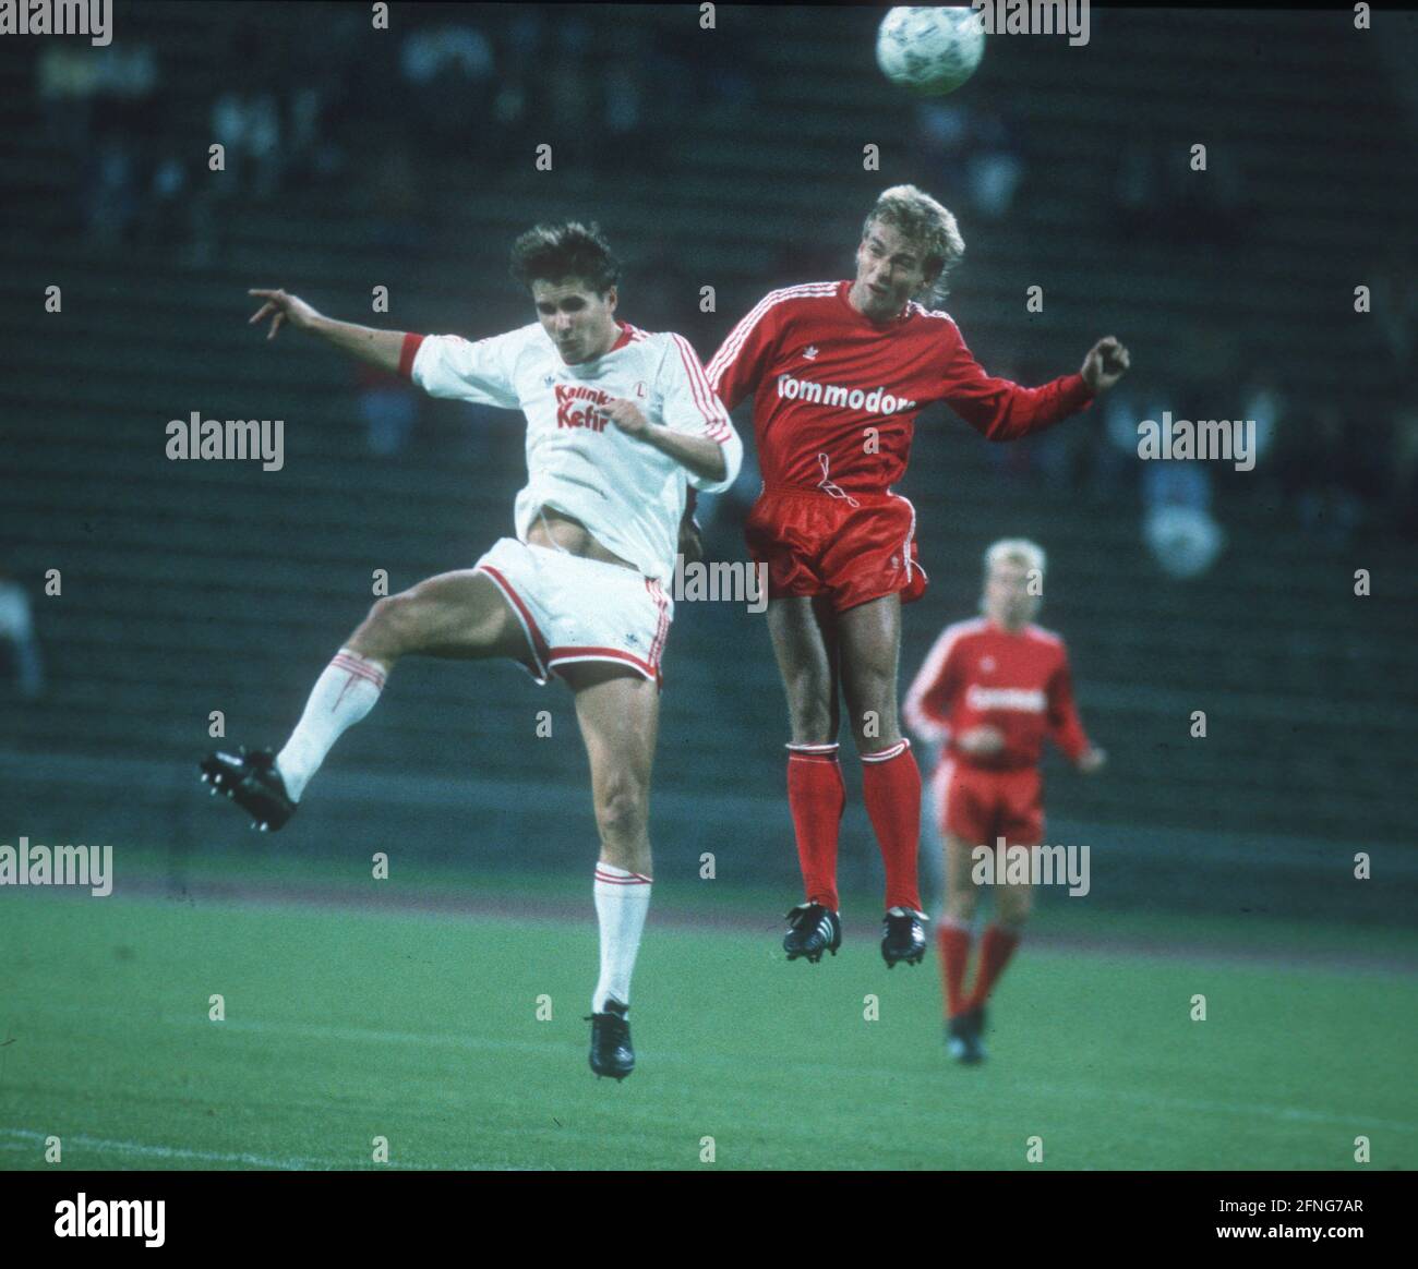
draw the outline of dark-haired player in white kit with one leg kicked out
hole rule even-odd
[[[576,698],[600,835],[590,1063],[624,1079],[635,1066],[630,980],[649,906],[649,773],[674,618],[665,583],[692,536],[688,491],[727,489],[743,445],[683,339],[615,319],[620,269],[594,224],[529,230],[512,248],[512,275],[537,320],[478,342],[336,322],[284,291],[251,292],[264,301],[251,320],[272,319],[268,339],[288,322],[432,396],[522,410],[527,483],[516,537],[374,604],[279,753],[211,753],[200,770],[254,827],[279,828],[401,656],[508,656],[537,682],[562,678]]]

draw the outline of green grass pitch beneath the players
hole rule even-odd
[[[967,1069],[933,954],[888,973],[875,900],[835,960],[787,964],[783,896],[657,883],[617,1085],[586,1065],[588,881],[420,879],[458,912],[203,869],[186,896],[0,892],[0,1167],[52,1167],[51,1136],[74,1168],[1346,1168],[1358,1136],[1418,1164],[1407,932],[1042,913]],[[1167,934],[1249,956],[1139,950]]]

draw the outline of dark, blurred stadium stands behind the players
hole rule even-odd
[[[1414,14],[1356,33],[1343,7],[1095,9],[1085,48],[991,40],[950,99],[968,118],[919,115],[881,78],[878,17],[723,6],[700,31],[693,6],[396,4],[376,33],[359,4],[119,3],[108,51],[0,41],[0,570],[31,597],[45,671],[35,699],[0,681],[4,839],[140,845],[179,868],[384,849],[586,872],[588,889],[570,698],[506,664],[401,665],[279,837],[200,795],[208,713],[234,743],[278,744],[372,571],[398,590],[469,566],[510,532],[525,471],[520,415],[390,396],[295,332],[267,345],[245,288],[491,335],[532,316],[506,278],[512,237],[594,218],[624,259],[621,315],[708,360],[770,288],[847,276],[875,194],[913,180],[960,218],[946,308],[987,369],[1038,383],[1116,333],[1139,410],[1231,418],[1265,390],[1275,431],[1255,471],[1211,465],[1227,546],[1174,578],[1143,542],[1144,465],[1109,448],[1099,407],[1008,448],[927,410],[900,492],[932,587],[906,611],[902,691],[974,611],[983,549],[1032,536],[1051,559],[1041,621],[1066,637],[1112,757],[1096,780],[1048,767],[1048,841],[1093,848],[1092,900],[1411,920]],[[401,60],[440,48],[468,71],[413,82]],[[210,173],[220,136],[244,140]],[[1197,142],[1207,174],[1187,169]],[[1018,176],[1012,197],[977,197],[990,172]],[[282,418],[284,469],[170,462],[164,427],[194,410]],[[718,557],[743,559],[753,492],[750,475],[712,509]],[[681,604],[657,876],[693,878],[712,851],[720,881],[793,902],[786,739],[761,618]],[[875,888],[858,764],[844,770],[844,873]],[[1351,881],[1360,849],[1368,883]]]

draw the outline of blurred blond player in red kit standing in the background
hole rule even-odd
[[[1052,740],[1082,773],[1105,754],[1083,733],[1073,708],[1064,641],[1032,624],[1045,557],[1032,542],[1004,539],[986,552],[984,615],[947,625],[906,693],[906,723],[942,744],[932,780],[946,849],[946,910],[936,926],[946,1044],[961,1062],[986,1056],[984,1007],[1020,941],[1029,883],[997,886],[994,923],[984,932],[974,988],[964,990],[970,923],[978,886],[977,848],[1044,842],[1039,757]]]

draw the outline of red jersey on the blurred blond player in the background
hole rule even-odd
[[[1037,766],[1045,736],[1073,763],[1089,749],[1073,708],[1068,649],[1037,625],[1010,632],[986,617],[947,625],[903,713],[923,739],[949,742],[943,760],[991,771]],[[1004,749],[988,757],[956,749],[951,737],[981,723],[1004,734]]]

